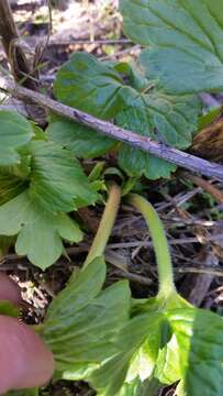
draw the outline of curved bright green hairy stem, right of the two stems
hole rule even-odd
[[[156,210],[145,198],[136,194],[131,194],[129,201],[142,212],[150,231],[158,265],[158,296],[167,299],[172,293],[176,293],[176,288],[174,284],[171,257],[163,223]]]

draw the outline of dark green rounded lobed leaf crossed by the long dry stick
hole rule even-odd
[[[123,82],[123,76],[129,85]],[[149,86],[142,69],[124,63],[107,65],[92,55],[76,53],[58,72],[55,95],[66,105],[99,118],[114,117],[119,125],[142,135],[161,139],[179,148],[188,147],[197,129],[199,101],[191,97],[170,97]],[[55,116],[47,132],[51,140],[69,147],[79,157],[102,155],[118,146],[111,139]],[[169,177],[176,169],[172,164],[126,144],[119,146],[119,164],[130,176],[156,179]]]

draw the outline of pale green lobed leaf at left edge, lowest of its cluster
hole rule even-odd
[[[29,196],[20,194],[0,207],[0,234],[18,235],[15,251],[45,270],[63,253],[62,239],[79,242],[82,233],[67,215],[52,213]]]

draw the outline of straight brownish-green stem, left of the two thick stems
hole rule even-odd
[[[83,268],[96,257],[103,254],[109,237],[114,226],[114,221],[120,206],[120,187],[118,185],[112,185],[109,191],[109,199],[107,201],[99,229],[89,250],[88,256],[85,261]]]

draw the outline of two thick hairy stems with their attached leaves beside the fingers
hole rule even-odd
[[[222,318],[192,307],[178,295],[163,224],[141,196],[130,195],[129,201],[145,217],[150,231],[158,294],[131,299],[126,282],[102,289],[102,254],[119,198],[119,188],[113,186],[82,268],[53,300],[40,328],[56,359],[55,378],[86,380],[101,396],[152,395],[154,385],[177,382],[178,396],[220,396]]]

